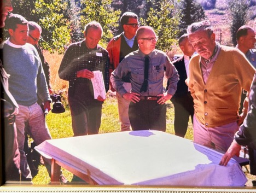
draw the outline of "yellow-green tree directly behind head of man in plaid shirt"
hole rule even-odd
[[[101,43],[107,45],[109,40],[114,37],[113,30],[119,26],[120,10],[113,10],[111,7],[112,0],[94,0],[80,1],[81,26],[84,28],[91,21],[97,21],[103,28],[103,37]]]

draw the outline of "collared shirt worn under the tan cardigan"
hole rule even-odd
[[[216,46],[213,52],[213,55],[211,56],[210,60],[205,60],[202,57],[200,57],[200,65],[201,65],[201,70],[202,70],[202,75],[203,75],[203,80],[205,81],[205,83],[208,80],[208,77],[212,71],[212,67],[215,63],[215,61],[217,60],[218,56],[219,56],[219,52],[221,50],[220,45],[216,42]]]

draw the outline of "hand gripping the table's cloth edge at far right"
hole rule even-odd
[[[240,153],[240,149],[241,149],[241,145],[239,145],[238,143],[236,143],[236,141],[234,140],[229,149],[226,151],[226,153],[223,155],[222,160],[220,160],[219,165],[220,166],[226,166],[228,165],[229,160],[234,156],[239,156]]]

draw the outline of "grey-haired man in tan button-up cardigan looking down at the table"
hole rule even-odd
[[[220,45],[208,21],[187,32],[198,55],[190,60],[189,89],[194,98],[194,142],[226,151],[242,121],[242,89],[249,90],[254,69],[241,51]]]

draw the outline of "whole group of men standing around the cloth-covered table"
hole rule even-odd
[[[3,27],[12,11],[10,0],[3,1],[1,10]],[[51,109],[53,92],[49,65],[38,45],[42,28],[36,22],[10,14],[5,23],[9,39],[3,43],[0,65],[5,180],[31,182],[24,150],[26,135],[36,145],[51,139],[44,114],[44,110]],[[104,98],[95,99],[91,79],[94,71],[101,71],[105,91],[110,89],[117,96],[120,131],[165,132],[165,103],[171,100],[177,136],[185,136],[190,117],[195,143],[226,152],[220,165],[226,166],[232,156],[239,154],[240,145],[247,145],[251,149],[251,173],[256,174],[253,28],[242,26],[237,31],[237,46],[231,48],[216,42],[210,22],[195,22],[178,40],[183,56],[171,62],[165,52],[155,49],[158,36],[154,29],[140,27],[136,14],[124,13],[120,25],[123,32],[104,49],[98,44],[103,33],[101,24],[89,22],[84,39],[69,45],[63,56],[59,77],[69,81],[74,136],[99,131]],[[51,161],[43,157],[43,162],[51,175]],[[67,183],[63,175],[60,179]],[[80,180],[75,176],[73,179]]]

